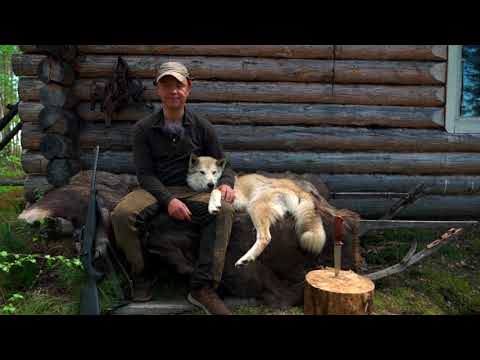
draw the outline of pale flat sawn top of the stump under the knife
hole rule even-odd
[[[313,270],[306,275],[306,281],[314,288],[339,294],[363,294],[375,289],[372,280],[351,270],[340,270],[337,277],[333,268]]]

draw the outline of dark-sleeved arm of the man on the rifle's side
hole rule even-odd
[[[133,159],[138,182],[142,188],[155,196],[160,207],[167,209],[174,197],[153,171],[152,152],[143,129],[134,126],[133,131]]]

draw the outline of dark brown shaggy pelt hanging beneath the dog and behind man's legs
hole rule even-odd
[[[255,242],[255,228],[248,214],[234,217],[230,242],[225,258],[220,291],[236,297],[257,298],[271,307],[290,307],[303,303],[305,275],[322,266],[333,266],[334,215],[344,218],[344,246],[342,268],[356,269],[358,252],[358,214],[337,210],[318,203],[322,213],[327,242],[319,256],[303,250],[297,241],[295,220],[286,216],[271,228],[272,241],[255,262],[236,267],[235,262]],[[327,210],[325,210],[327,206]],[[155,219],[152,220],[155,223]],[[151,228],[147,239],[149,247],[159,254],[163,262],[176,272],[191,275],[194,267],[198,236],[187,233],[170,233],[165,237],[161,228]],[[158,239],[161,239],[160,241]]]

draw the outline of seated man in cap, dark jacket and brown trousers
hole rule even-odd
[[[235,173],[227,163],[218,182],[221,211],[209,214],[209,194],[193,192],[187,187],[186,177],[190,154],[225,157],[214,128],[185,106],[192,80],[184,65],[162,64],[154,84],[162,108],[134,127],[133,152],[140,188],[125,196],[112,212],[117,246],[131,265],[132,300],[148,301],[152,297],[145,275],[141,225],[156,216],[165,236],[170,229],[199,232],[199,252],[188,300],[207,313],[230,315],[216,289],[232,228]]]

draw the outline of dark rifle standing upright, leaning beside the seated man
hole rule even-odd
[[[97,189],[95,187],[95,178],[97,173],[98,152],[100,148],[95,148],[95,161],[93,164],[92,180],[90,185],[90,197],[88,200],[87,219],[82,226],[80,233],[81,254],[80,260],[87,273],[87,282],[80,293],[80,315],[99,315],[100,299],[98,297],[97,281],[103,277],[103,273],[98,272],[93,266],[93,247],[97,232]]]

